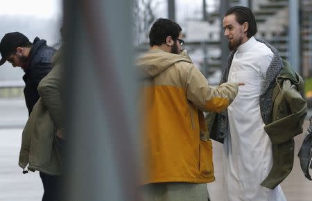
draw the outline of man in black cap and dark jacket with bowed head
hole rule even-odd
[[[28,114],[39,98],[37,87],[39,82],[51,71],[51,58],[55,49],[46,45],[46,40],[35,38],[31,43],[28,38],[19,33],[6,33],[0,42],[0,65],[6,61],[13,67],[21,67],[25,75],[24,96]]]

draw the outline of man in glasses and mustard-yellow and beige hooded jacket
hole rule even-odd
[[[214,181],[212,144],[203,112],[222,112],[239,85],[211,87],[182,51],[182,28],[157,19],[150,29],[150,51],[141,55],[141,128],[144,200],[209,200]]]

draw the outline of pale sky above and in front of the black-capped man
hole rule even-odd
[[[0,40],[6,33],[19,31],[31,42],[36,36],[53,45],[60,40],[62,0],[1,0]],[[0,84],[3,81],[22,81],[24,72],[8,62],[0,67]]]

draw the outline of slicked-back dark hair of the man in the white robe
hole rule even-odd
[[[236,17],[236,21],[239,24],[244,24],[248,22],[248,30],[247,30],[247,37],[250,38],[257,33],[257,23],[256,19],[254,18],[254,14],[252,11],[244,6],[234,6],[229,8],[225,13],[225,16],[234,14]]]

